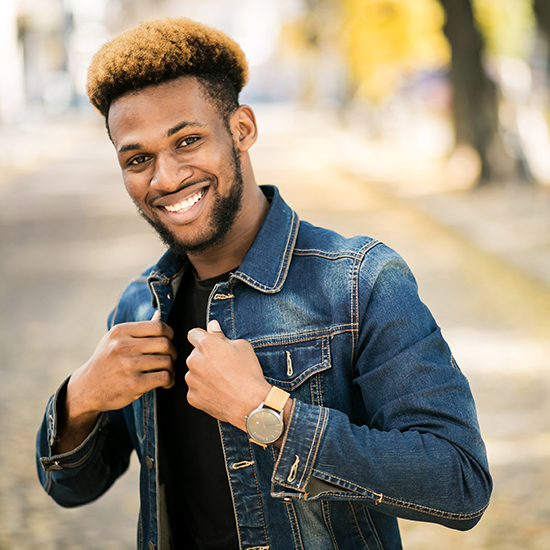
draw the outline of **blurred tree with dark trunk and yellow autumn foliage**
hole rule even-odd
[[[502,56],[528,55],[531,2],[550,33],[550,0],[304,0],[297,35],[311,58],[336,46],[338,19],[349,96],[375,104],[415,73],[448,66],[455,142],[476,151],[483,184],[528,174],[517,130],[501,132],[499,67]]]

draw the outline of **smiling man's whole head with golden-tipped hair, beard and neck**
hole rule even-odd
[[[248,157],[254,113],[238,104],[247,70],[233,40],[182,18],[123,33],[89,71],[130,197],[197,271],[200,258],[238,265],[266,212]]]

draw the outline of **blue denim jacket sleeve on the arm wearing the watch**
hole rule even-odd
[[[412,274],[388,250],[357,280],[353,384],[369,420],[355,425],[341,411],[295,401],[272,495],[360,500],[470,529],[492,490],[473,397]],[[382,266],[374,273],[373,263]]]

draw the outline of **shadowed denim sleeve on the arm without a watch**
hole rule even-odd
[[[57,439],[57,408],[68,378],[53,395],[36,439],[38,477],[61,506],[87,504],[101,496],[128,468],[132,443],[122,411],[99,416],[94,429],[74,450],[53,455]]]

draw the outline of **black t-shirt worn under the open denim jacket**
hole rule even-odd
[[[187,402],[186,359],[193,350],[192,328],[206,326],[208,298],[228,274],[198,280],[189,267],[168,318],[178,351],[176,383],[158,391],[161,483],[174,548],[238,549],[237,529],[218,422]]]

